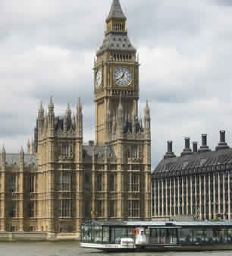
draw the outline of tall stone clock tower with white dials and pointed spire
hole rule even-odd
[[[112,141],[120,102],[124,121],[133,122],[138,115],[139,62],[127,36],[127,17],[119,0],[113,0],[106,19],[105,38],[96,56],[93,68],[96,144],[105,145]]]

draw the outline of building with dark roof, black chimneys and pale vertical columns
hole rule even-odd
[[[207,135],[202,134],[202,146],[197,149],[185,138],[181,156],[168,152],[152,173],[152,218],[193,216],[195,219],[232,219],[232,149],[220,131],[220,142],[212,151]]]

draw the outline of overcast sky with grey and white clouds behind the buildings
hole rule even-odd
[[[230,0],[121,0],[140,53],[140,113],[149,100],[152,166],[174,141],[212,149],[219,130],[232,144],[232,7]],[[39,101],[55,112],[83,101],[84,140],[94,139],[92,65],[103,40],[105,0],[0,0],[0,144],[26,150]],[[90,93],[91,92],[91,93]]]

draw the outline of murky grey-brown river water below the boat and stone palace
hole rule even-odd
[[[0,256],[232,256],[232,251],[103,253],[77,242],[0,242]]]

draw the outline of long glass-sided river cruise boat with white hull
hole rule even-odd
[[[91,221],[81,226],[80,247],[102,251],[232,250],[232,222]]]

